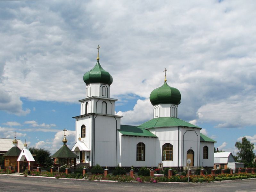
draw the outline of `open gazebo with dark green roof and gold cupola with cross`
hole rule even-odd
[[[68,166],[70,165],[70,169],[72,167],[72,159],[74,160],[74,168],[76,169],[76,159],[79,158],[74,154],[74,152],[71,151],[70,148],[67,146],[68,140],[66,139],[66,129],[64,131],[64,139],[62,140],[63,146],[54,153],[51,158],[54,160],[54,164],[56,162],[56,159],[59,160],[58,166],[61,165],[61,162],[66,163]]]

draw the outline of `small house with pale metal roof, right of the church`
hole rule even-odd
[[[218,152],[214,153],[214,169],[236,169],[244,168],[244,163],[235,161],[231,152]]]

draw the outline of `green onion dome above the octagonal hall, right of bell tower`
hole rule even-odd
[[[178,89],[170,87],[166,81],[161,87],[154,89],[149,96],[152,105],[175,104],[181,102],[181,95]]]

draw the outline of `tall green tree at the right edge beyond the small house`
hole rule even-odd
[[[252,160],[255,157],[253,153],[254,144],[243,137],[242,142],[235,142],[235,147],[239,150],[236,153],[238,161],[244,163],[245,167],[252,166]]]

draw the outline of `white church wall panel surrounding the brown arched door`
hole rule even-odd
[[[182,127],[181,130],[181,145],[182,145],[182,164],[180,166],[187,165],[187,151],[189,149],[194,151],[194,166],[200,166],[200,129]],[[192,165],[190,165],[192,166]]]

